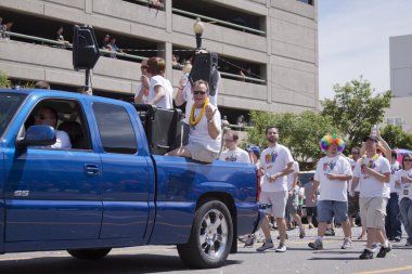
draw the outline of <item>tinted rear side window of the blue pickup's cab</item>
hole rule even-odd
[[[138,152],[134,130],[123,106],[95,103],[93,112],[104,152],[119,154]]]

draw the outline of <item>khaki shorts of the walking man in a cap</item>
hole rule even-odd
[[[385,230],[385,217],[387,198],[383,197],[361,197],[359,207],[362,226],[366,229]]]

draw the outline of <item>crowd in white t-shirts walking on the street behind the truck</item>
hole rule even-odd
[[[269,209],[268,216],[276,220],[280,239],[276,252],[286,251],[285,217],[294,219],[300,229],[300,238],[305,237],[301,220],[294,216],[298,205],[294,203],[294,195],[306,198],[309,229],[313,227],[314,216],[319,223],[318,236],[308,244],[311,249],[323,249],[323,237],[334,235],[331,225],[333,227],[335,222],[344,232],[342,249],[351,248],[351,227],[359,214],[362,233],[358,239],[366,236],[366,248],[359,256],[360,259],[372,259],[375,253],[377,258],[385,258],[391,251],[390,242],[401,240],[399,217],[408,235],[405,246],[412,246],[412,155],[403,155],[402,165],[399,165],[396,152],[389,148],[379,134],[371,134],[364,138],[362,147],[353,147],[351,156],[346,157],[343,155],[343,139],[336,134],[325,135],[320,142],[325,156],[319,160],[314,177],[305,185],[302,193],[296,187],[296,162],[288,149],[278,144],[278,129],[269,127],[266,138],[269,147],[262,152],[258,164],[262,187],[260,203]],[[252,147],[257,149],[250,146],[246,151],[252,151]],[[241,155],[239,151],[236,154]],[[240,157],[224,154],[220,159],[237,161]],[[263,220],[261,229],[266,239],[257,251],[274,247],[269,218]],[[245,242],[245,246],[253,246],[254,240],[250,238],[254,239],[247,235],[241,240]]]

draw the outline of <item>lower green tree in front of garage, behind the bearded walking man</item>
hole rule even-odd
[[[330,117],[316,112],[301,114],[274,114],[266,112],[250,112],[255,127],[247,130],[247,144],[267,147],[265,135],[268,126],[275,126],[280,133],[280,143],[291,149],[294,159],[299,161],[301,170],[312,169],[321,157],[319,142],[326,133],[337,132],[332,126]]]

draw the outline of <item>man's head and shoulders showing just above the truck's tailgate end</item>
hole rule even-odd
[[[224,134],[227,149],[219,156],[219,160],[246,162],[250,164],[249,155],[246,151],[237,147],[239,135],[236,132],[229,130]]]

